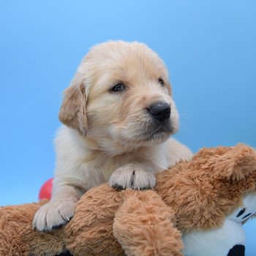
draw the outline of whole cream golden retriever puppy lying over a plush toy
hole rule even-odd
[[[37,230],[65,225],[91,187],[152,188],[154,173],[192,157],[170,138],[178,112],[167,69],[143,43],[94,46],[64,94],[53,195],[34,217]]]

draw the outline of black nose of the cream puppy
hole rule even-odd
[[[170,105],[166,102],[154,102],[147,110],[157,121],[165,121],[170,118]]]

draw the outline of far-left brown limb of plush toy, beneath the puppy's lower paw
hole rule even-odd
[[[39,233],[31,227],[44,203],[46,200],[0,208],[0,255],[59,255],[64,251],[62,230]]]

